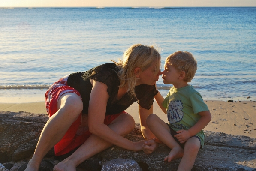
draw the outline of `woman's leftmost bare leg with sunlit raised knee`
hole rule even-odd
[[[83,102],[75,93],[66,93],[60,96],[57,106],[58,111],[45,124],[34,155],[25,171],[38,171],[45,154],[63,138],[83,110]]]

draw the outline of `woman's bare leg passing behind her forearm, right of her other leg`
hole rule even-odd
[[[120,114],[111,124],[108,125],[114,132],[121,136],[127,135],[134,129],[135,122],[129,114]],[[111,147],[112,144],[91,135],[71,156],[54,167],[54,171],[76,171],[76,167],[91,156]]]

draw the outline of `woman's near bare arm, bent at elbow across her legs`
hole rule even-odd
[[[107,125],[104,124],[106,106],[108,102],[107,85],[95,80],[92,80],[92,91],[90,94],[89,111],[88,111],[88,126],[92,134],[108,141],[111,144],[125,148],[127,150],[138,151],[142,150],[144,141],[132,142],[118,135]]]

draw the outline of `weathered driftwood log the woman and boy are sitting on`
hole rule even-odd
[[[0,111],[0,163],[29,160],[42,128],[48,120],[46,114]],[[142,140],[139,124],[126,136],[131,141]],[[79,171],[98,171],[101,166],[117,158],[133,159],[143,171],[176,171],[181,159],[164,162],[170,149],[164,144],[147,155],[117,146],[108,148],[78,166]],[[61,161],[69,154],[53,157],[50,151],[45,159]],[[54,164],[54,162],[53,162]],[[56,164],[56,163],[55,163]],[[256,138],[205,131],[205,145],[196,158],[193,171],[256,171]]]

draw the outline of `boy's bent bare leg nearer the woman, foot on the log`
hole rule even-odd
[[[167,147],[172,149],[169,155],[165,157],[165,161],[171,162],[173,159],[183,156],[184,150],[172,137],[169,126],[163,120],[155,114],[150,114],[146,119],[146,123],[151,132]]]

